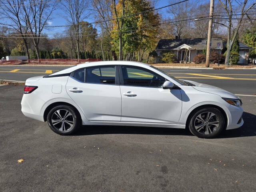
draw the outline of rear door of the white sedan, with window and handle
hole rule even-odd
[[[116,66],[76,70],[68,78],[66,91],[88,120],[120,121],[122,102]]]

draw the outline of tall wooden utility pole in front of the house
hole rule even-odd
[[[206,49],[206,67],[210,66],[210,43],[212,41],[213,8],[214,8],[214,0],[210,0],[210,14],[209,14],[208,37],[207,37],[207,49]]]

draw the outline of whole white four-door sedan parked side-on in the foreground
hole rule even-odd
[[[128,61],[78,64],[28,78],[21,106],[25,116],[47,121],[60,135],[82,124],[189,128],[214,138],[244,123],[234,94]]]

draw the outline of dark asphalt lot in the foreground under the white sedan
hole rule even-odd
[[[206,140],[128,126],[60,136],[22,114],[22,94],[23,86],[0,86],[1,192],[256,191],[256,97],[241,97],[241,128]]]

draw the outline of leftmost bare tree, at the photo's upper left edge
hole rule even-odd
[[[26,48],[26,54],[28,59],[30,55],[28,52],[28,20],[22,13],[23,0],[0,0],[2,8],[0,9],[1,19],[8,19],[12,23],[8,26],[12,27],[14,31],[18,32],[17,37],[22,37],[24,46]]]

